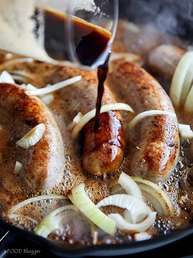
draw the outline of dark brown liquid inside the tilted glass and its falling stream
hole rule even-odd
[[[68,59],[65,46],[65,23],[67,16],[52,10],[45,10],[45,49],[55,59]],[[72,36],[78,59],[83,65],[91,66],[99,55],[106,49],[111,33],[99,26],[82,19],[72,18]],[[52,49],[55,56],[52,55]],[[56,50],[58,51],[56,56]],[[100,108],[104,91],[104,80],[108,72],[108,58],[98,67],[98,96],[96,100],[96,114],[94,129],[100,128]]]

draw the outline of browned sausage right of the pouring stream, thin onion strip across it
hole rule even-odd
[[[116,84],[120,95],[127,95],[127,103],[136,113],[151,109],[175,113],[169,96],[148,72],[132,63],[116,66],[116,60],[113,62],[116,69],[108,77],[109,86]],[[154,115],[143,119],[138,147],[131,158],[129,174],[153,182],[166,181],[179,153],[177,118]]]

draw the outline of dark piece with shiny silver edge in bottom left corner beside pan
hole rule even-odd
[[[0,238],[0,258],[4,258],[7,255],[7,247],[11,244],[14,238],[14,233],[9,230],[3,233]]]

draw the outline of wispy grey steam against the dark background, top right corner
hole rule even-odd
[[[163,33],[190,39],[193,31],[192,10],[191,0],[121,0],[119,13],[134,23],[154,25]]]

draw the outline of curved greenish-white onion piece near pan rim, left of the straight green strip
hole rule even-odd
[[[62,218],[66,215],[63,214],[63,217],[61,216],[56,216],[59,212],[63,212],[69,209],[73,209],[77,211],[78,209],[73,205],[69,204],[64,207],[60,207],[58,209],[55,209],[54,211],[50,212],[47,216],[45,216],[39,223],[37,229],[35,230],[36,235],[42,236],[47,238],[48,235],[60,228],[60,222]]]

